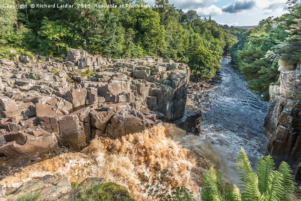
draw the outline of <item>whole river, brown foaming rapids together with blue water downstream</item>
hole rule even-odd
[[[152,174],[152,167],[159,162],[169,172],[167,188],[185,186],[199,200],[200,172],[214,166],[236,181],[234,166],[240,147],[254,164],[267,143],[263,119],[268,103],[247,88],[229,59],[222,61],[220,74],[221,83],[190,95],[203,110],[199,136],[163,124],[116,140],[100,137],[81,152],[64,153],[25,167],[0,184],[17,187],[31,178],[61,172],[71,182],[102,177],[127,187],[136,200],[148,200],[138,174]]]

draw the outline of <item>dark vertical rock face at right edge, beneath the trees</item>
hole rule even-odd
[[[301,72],[281,71],[280,85],[271,84],[270,108],[265,118],[265,135],[276,165],[287,162],[301,181]]]

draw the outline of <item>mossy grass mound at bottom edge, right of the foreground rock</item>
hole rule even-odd
[[[80,187],[72,184],[73,187]],[[84,186],[82,186],[84,188]],[[134,201],[128,194],[125,187],[116,183],[108,182],[97,185],[91,185],[90,189],[82,190],[78,197],[72,201]]]

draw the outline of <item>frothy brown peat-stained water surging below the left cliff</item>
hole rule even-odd
[[[72,182],[102,177],[127,187],[134,198],[142,200],[147,196],[139,184],[138,173],[150,175],[156,162],[169,172],[167,188],[185,186],[195,192],[196,198],[200,192],[200,172],[211,166],[220,167],[219,158],[208,143],[198,136],[185,135],[174,125],[164,124],[121,139],[94,139],[80,153],[65,153],[36,163],[0,183],[19,186],[33,177],[62,172]]]

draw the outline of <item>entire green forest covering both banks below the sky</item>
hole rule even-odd
[[[287,14],[262,20],[251,30],[219,25],[193,10],[185,13],[168,0],[156,0],[155,5],[162,5],[161,8],[139,9],[118,6],[146,3],[129,0],[48,3],[114,4],[117,8],[0,8],[3,55],[12,47],[52,56],[65,54],[69,48],[108,58],[158,56],[188,63],[193,73],[212,77],[221,67],[222,55],[231,54],[233,64],[259,93],[267,91],[269,83],[277,80],[280,57],[296,64],[301,60],[301,5],[295,0],[287,2]],[[43,1],[21,0],[18,4],[43,4]]]

